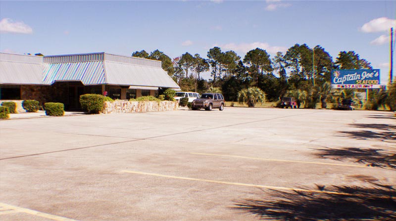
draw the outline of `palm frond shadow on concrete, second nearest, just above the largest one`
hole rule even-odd
[[[382,149],[361,149],[355,147],[319,149],[316,156],[337,161],[353,160],[369,167],[380,167],[396,170],[396,153]]]

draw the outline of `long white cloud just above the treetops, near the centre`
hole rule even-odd
[[[243,54],[246,54],[247,51],[253,50],[257,47],[266,50],[270,54],[276,54],[276,52],[278,51],[286,52],[287,50],[287,47],[271,46],[268,43],[262,43],[262,42],[242,43],[242,44],[230,43],[219,46],[221,47],[221,49],[224,48],[225,50],[234,50],[237,52],[241,52]]]

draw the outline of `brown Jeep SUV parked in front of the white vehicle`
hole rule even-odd
[[[193,100],[192,108],[193,110],[205,108],[207,111],[219,108],[222,111],[224,104],[224,97],[221,93],[203,93],[200,98]]]

